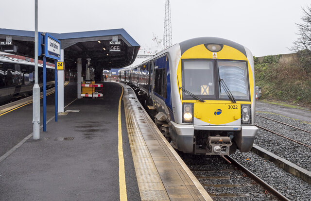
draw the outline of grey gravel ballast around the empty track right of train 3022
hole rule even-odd
[[[262,115],[262,113],[260,113]],[[305,130],[311,130],[311,125],[297,121],[288,117],[281,117],[279,115],[264,114],[262,116],[276,119],[281,122],[294,125]],[[299,142],[311,145],[311,134],[303,131],[282,125],[280,123],[262,118],[255,117],[255,123],[259,126],[268,128],[269,130],[276,131],[277,133],[283,134],[287,137],[293,138]],[[263,149],[270,151],[286,160],[311,171],[311,149],[303,145],[299,145],[293,141],[285,139],[276,134],[272,134],[263,129],[258,130],[255,144],[262,147]]]

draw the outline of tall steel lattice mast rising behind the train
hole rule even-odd
[[[163,33],[163,50],[172,46],[172,23],[171,23],[171,3],[165,1],[164,33]]]

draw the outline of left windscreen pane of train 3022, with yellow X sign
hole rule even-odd
[[[212,61],[183,61],[182,86],[202,99],[215,99],[214,63]],[[183,91],[183,98],[193,100]]]

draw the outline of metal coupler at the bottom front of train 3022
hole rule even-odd
[[[215,155],[229,155],[231,145],[230,137],[210,136],[208,137],[207,151]]]

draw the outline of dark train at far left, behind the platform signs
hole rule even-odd
[[[55,85],[54,67],[46,66],[47,88]],[[0,105],[33,94],[35,63],[0,55]],[[43,66],[38,64],[38,84],[42,90]]]

